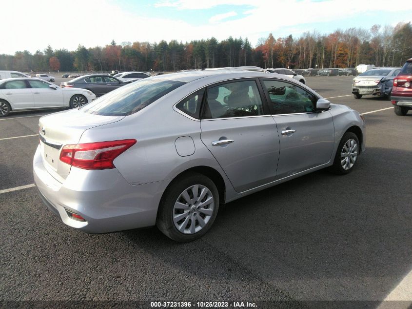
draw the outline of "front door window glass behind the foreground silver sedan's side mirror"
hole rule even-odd
[[[315,96],[289,82],[263,81],[274,114],[308,113],[316,111]]]

